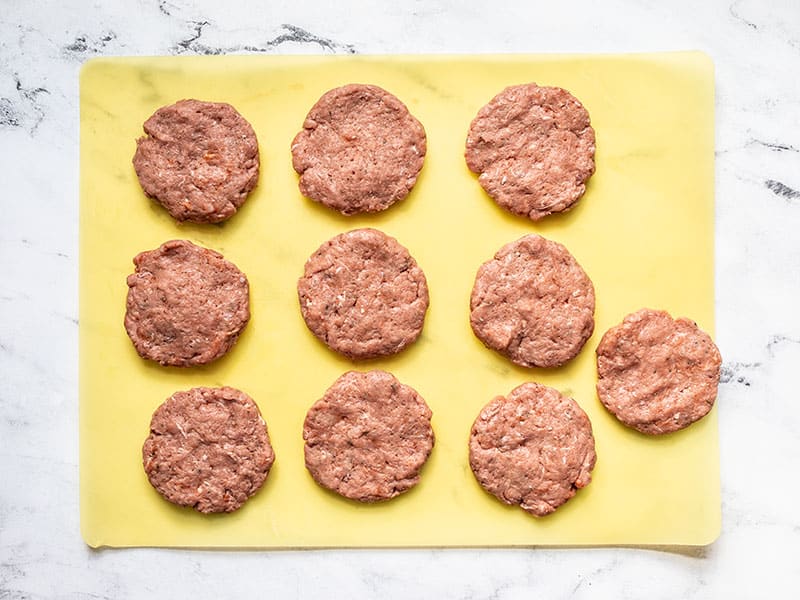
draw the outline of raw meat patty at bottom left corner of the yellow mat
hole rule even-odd
[[[176,392],[156,409],[142,459],[164,498],[214,513],[234,511],[255,494],[275,453],[247,394],[201,387]]]

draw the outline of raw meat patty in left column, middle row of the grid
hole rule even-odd
[[[247,277],[221,254],[187,240],[133,259],[125,330],[142,358],[204,365],[224,355],[250,319]]]

